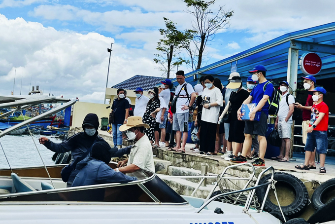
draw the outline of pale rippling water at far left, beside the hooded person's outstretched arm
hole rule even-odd
[[[0,138],[0,169],[9,168],[4,153],[7,156],[9,164],[12,168],[19,167],[31,167],[31,166],[43,166],[41,157],[34,145],[36,143],[37,148],[43,158],[45,165],[53,165],[55,162],[52,160],[52,156],[55,152],[50,151],[45,146],[39,144],[38,139],[42,137],[40,135],[33,135],[33,139],[30,135],[6,135]],[[62,140],[49,138],[54,143],[61,143]],[[34,142],[33,142],[34,141]]]

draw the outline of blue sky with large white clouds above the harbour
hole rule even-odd
[[[219,6],[234,16],[207,46],[203,66],[335,21],[334,0],[216,0],[212,10]],[[158,30],[163,17],[192,29],[186,9],[182,0],[0,0],[0,94],[39,85],[47,95],[103,103],[110,44],[108,87],[134,75],[162,76],[153,61]]]

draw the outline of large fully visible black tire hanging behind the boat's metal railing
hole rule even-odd
[[[268,179],[271,178],[271,174],[268,174],[264,176],[260,182],[259,185],[268,183]],[[302,210],[305,208],[305,206],[308,203],[308,192],[306,186],[302,183],[301,180],[299,180],[297,177],[283,172],[276,172],[274,173],[273,179],[277,181],[277,183],[284,183],[287,186],[292,187],[295,190],[296,198],[290,205],[287,206],[281,206],[281,209],[285,216],[288,216],[290,218],[294,215],[297,215],[302,212]],[[256,189],[256,195],[258,197],[258,201],[260,204],[263,203],[265,192],[267,191],[267,187],[261,187]],[[269,198],[267,198],[267,201],[264,206],[264,210],[267,212],[272,211],[279,211],[279,206],[273,204]]]

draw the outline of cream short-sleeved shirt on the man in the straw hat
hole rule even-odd
[[[143,170],[149,170],[155,173],[155,164],[152,155],[152,146],[148,136],[144,135],[132,147],[129,154],[128,164],[134,164]],[[127,174],[137,179],[147,178],[142,171]]]

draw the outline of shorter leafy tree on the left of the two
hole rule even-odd
[[[189,60],[180,57],[180,48],[182,47],[182,43],[186,44],[187,42],[190,42],[193,35],[187,33],[187,31],[178,31],[176,23],[165,17],[163,19],[165,21],[166,29],[159,29],[163,38],[157,42],[156,47],[156,49],[162,53],[155,54],[153,60],[159,65],[158,69],[169,78],[171,70],[176,66],[180,66],[183,63],[189,63]]]

